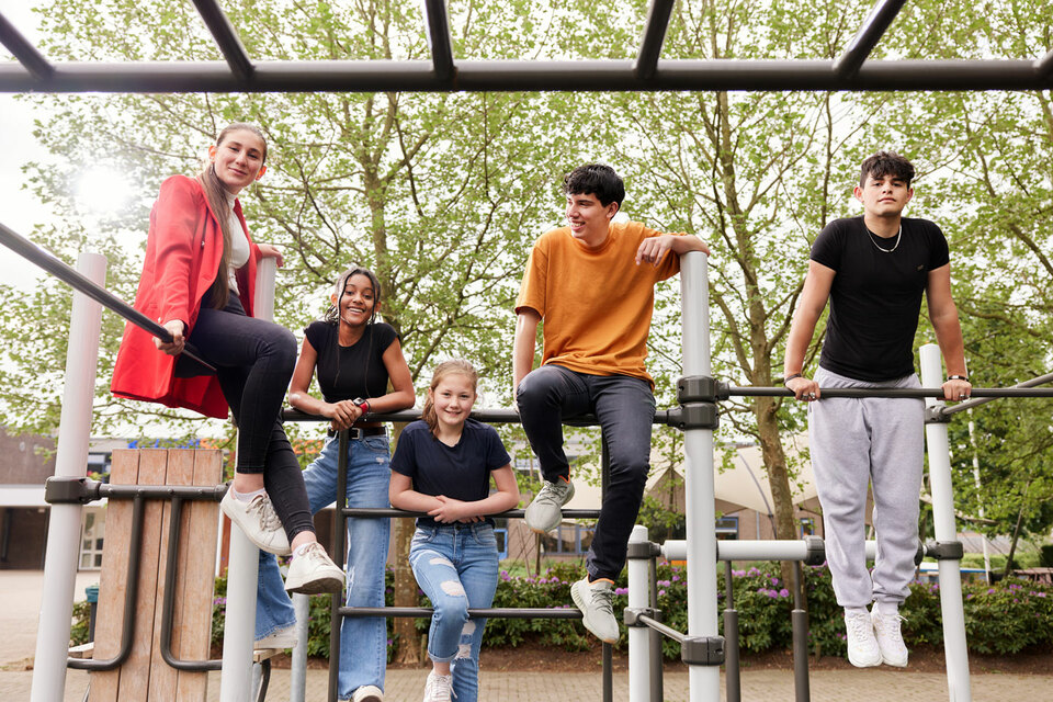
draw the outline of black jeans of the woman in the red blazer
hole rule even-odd
[[[216,366],[223,396],[238,423],[238,473],[262,473],[267,495],[288,540],[314,532],[304,476],[282,428],[285,390],[296,364],[296,339],[279,325],[245,314],[234,293],[215,309],[202,301],[188,341]]]

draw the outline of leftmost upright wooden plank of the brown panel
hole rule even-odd
[[[135,485],[139,452],[117,449],[110,466],[112,485]],[[95,656],[113,658],[121,649],[124,598],[127,588],[128,545],[132,539],[132,500],[111,500],[106,506],[106,535],[99,574],[99,609],[95,616]],[[91,702],[115,702],[121,670],[91,673]]]

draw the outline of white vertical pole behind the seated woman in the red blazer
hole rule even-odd
[[[254,316],[274,318],[274,259],[261,259],[256,271]],[[260,550],[240,529],[230,530],[230,558],[227,562],[227,612],[223,631],[223,671],[219,679],[222,702],[249,702],[252,699],[252,641],[256,634],[256,588],[260,571]]]

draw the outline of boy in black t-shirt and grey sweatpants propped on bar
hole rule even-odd
[[[918,541],[924,458],[920,399],[826,398],[819,386],[920,387],[914,335],[921,295],[948,370],[943,396],[969,397],[947,239],[933,223],[903,217],[914,167],[880,151],[862,163],[853,193],[863,215],[828,224],[812,246],[808,273],[786,341],[785,385],[808,406],[808,441],[823,506],[826,555],[845,608],[854,666],[907,665],[899,603],[909,595]],[[803,372],[815,325],[830,302],[815,377]],[[878,557],[867,571],[867,485],[874,495]],[[874,602],[870,613],[867,605]]]

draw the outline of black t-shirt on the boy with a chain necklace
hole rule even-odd
[[[902,225],[896,245],[868,231],[862,217],[835,219],[812,245],[812,260],[837,272],[819,358],[826,370],[870,382],[914,372],[921,295],[929,271],[950,254],[936,224],[904,217]]]

